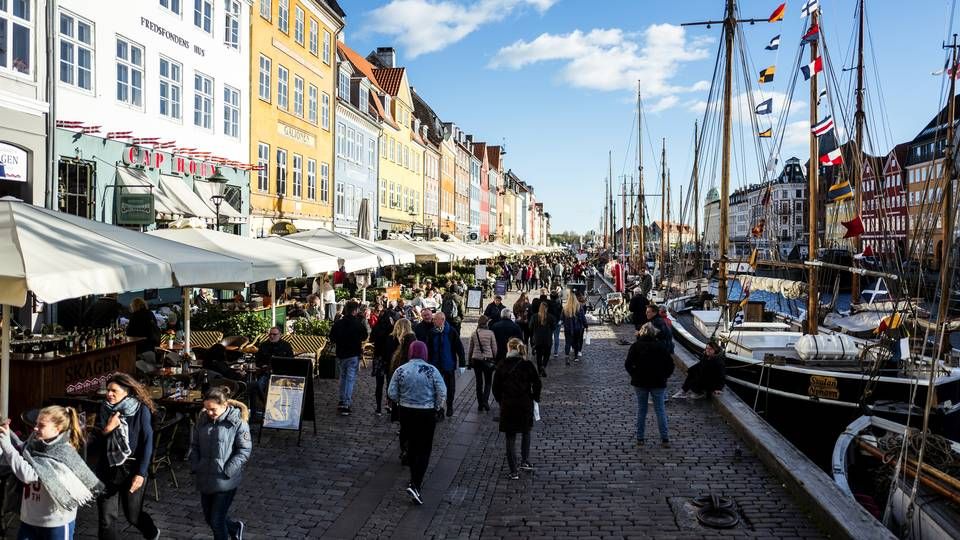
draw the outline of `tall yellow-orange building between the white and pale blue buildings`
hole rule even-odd
[[[250,232],[333,226],[335,1],[257,0],[250,18]]]

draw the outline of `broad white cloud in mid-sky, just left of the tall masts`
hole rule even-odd
[[[569,34],[541,34],[532,41],[517,41],[500,49],[491,68],[521,69],[540,62],[563,62],[560,77],[579,88],[635,90],[641,81],[644,98],[654,99],[654,109],[679,103],[676,94],[709,88],[707,81],[679,86],[673,81],[680,66],[707,58],[711,38],[688,40],[684,29],[654,24],[641,33],[618,28],[574,30]]]

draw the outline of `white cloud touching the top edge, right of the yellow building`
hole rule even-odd
[[[503,20],[517,10],[532,7],[543,13],[559,0],[390,0],[367,14],[366,30],[390,36],[411,58],[436,52]]]

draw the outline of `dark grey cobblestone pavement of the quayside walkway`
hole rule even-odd
[[[512,304],[508,298],[508,305]],[[464,324],[472,332],[476,316]],[[425,505],[403,488],[396,429],[373,414],[373,378],[363,370],[354,414],[336,416],[336,381],[317,384],[317,434],[267,431],[254,447],[234,517],[245,538],[819,538],[822,532],[708,402],[670,401],[672,447],[656,437],[634,445],[636,398],[623,372],[627,326],[595,327],[581,365],[554,360],[533,432],[536,471],[507,475],[497,407],[476,412],[472,372],[458,380],[456,414],[440,424],[424,484]],[[561,352],[562,354],[562,352]],[[670,380],[671,393],[682,379]],[[647,429],[656,433],[652,410]],[[256,427],[254,427],[256,436]],[[163,538],[209,538],[186,464],[153,484],[146,510]],[[741,517],[731,530],[701,528],[691,497],[731,497]],[[13,538],[14,530],[9,536]],[[96,536],[96,509],[80,511],[78,538]],[[135,538],[129,529],[125,538]]]

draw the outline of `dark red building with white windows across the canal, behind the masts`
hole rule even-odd
[[[898,144],[885,158],[867,156],[863,165],[863,247],[874,254],[906,254],[910,215],[907,211],[906,164],[909,143]],[[877,170],[879,169],[879,171]],[[879,174],[878,174],[879,173]]]

